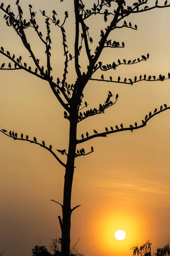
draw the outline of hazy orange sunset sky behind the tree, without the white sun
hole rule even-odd
[[[56,10],[59,19],[68,10],[69,20],[65,24],[68,46],[74,55],[73,1],[20,0],[28,18],[28,4],[37,11],[37,23],[45,34],[43,17],[39,9],[50,15]],[[130,1],[127,1],[130,2]],[[159,1],[161,2],[161,1]],[[164,1],[163,1],[164,2]],[[90,0],[86,0],[91,6]],[[155,1],[148,0],[151,6]],[[6,4],[6,3],[5,3]],[[12,9],[14,1],[8,0]],[[128,4],[127,4],[128,5]],[[88,9],[88,7],[86,9]],[[106,78],[134,78],[134,76],[167,76],[170,72],[170,8],[155,9],[131,15],[126,21],[138,25],[138,30],[118,29],[110,35],[113,40],[125,42],[125,48],[105,49],[100,61],[112,63],[119,58],[133,60],[150,54],[148,61],[135,65],[122,65],[116,71],[104,73]],[[97,24],[97,26],[96,26]],[[105,23],[102,17],[88,20],[94,39],[92,50],[99,41],[100,30]],[[63,52],[60,31],[51,26],[52,68],[54,80],[62,77]],[[0,12],[0,46],[31,65],[31,58],[11,28],[5,26]],[[34,29],[27,30],[28,41],[45,66],[45,50]],[[0,56],[0,63],[8,60]],[[82,51],[80,65],[86,70],[87,60]],[[34,65],[32,65],[34,67]],[[74,83],[74,62],[69,67],[68,83]],[[100,78],[101,73],[94,77]],[[61,80],[61,79],[60,79]],[[141,81],[133,86],[90,81],[85,88],[85,100],[89,107],[104,102],[108,90],[119,100],[105,115],[89,117],[78,125],[77,138],[93,129],[99,132],[105,127],[125,126],[141,123],[144,116],[160,105],[170,105],[170,82]],[[67,148],[68,120],[63,118],[63,109],[57,102],[47,82],[40,81],[24,71],[0,70],[0,129],[14,130],[18,134],[45,140],[53,148]],[[79,252],[85,256],[130,256],[130,247],[145,243],[148,239],[155,248],[170,242],[170,115],[169,110],[155,116],[147,126],[134,131],[111,134],[107,138],[95,138],[83,145],[94,153],[76,159],[73,182],[72,207],[81,204],[72,215],[71,244],[77,242]],[[62,159],[65,161],[65,158]],[[64,168],[45,149],[38,145],[14,141],[0,133],[0,250],[5,256],[30,256],[31,249],[39,244],[51,242],[59,230],[59,205],[62,203]],[[126,232],[124,241],[116,241],[114,233]],[[58,233],[60,234],[60,233]]]

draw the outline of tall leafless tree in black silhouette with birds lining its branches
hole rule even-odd
[[[63,2],[63,0],[60,0]],[[55,149],[52,148],[52,145],[46,145],[45,142],[38,142],[36,137],[33,139],[28,137],[28,135],[17,134],[17,132],[9,131],[1,129],[0,131],[14,140],[23,140],[30,143],[34,143],[40,145],[42,148],[48,150],[56,160],[65,168],[65,180],[64,180],[64,193],[63,193],[63,202],[62,204],[56,202],[62,207],[62,218],[59,218],[59,224],[62,231],[61,238],[61,254],[62,256],[69,256],[70,254],[70,230],[71,230],[71,214],[77,209],[80,205],[77,205],[71,208],[71,189],[72,182],[74,176],[74,168],[75,168],[75,158],[80,156],[85,156],[94,152],[94,148],[84,149],[82,148],[82,143],[88,140],[92,140],[96,137],[107,137],[109,134],[114,134],[122,131],[131,131],[139,129],[147,125],[147,122],[150,121],[151,118],[156,116],[157,114],[170,109],[166,104],[161,105],[159,108],[155,108],[155,111],[152,113],[151,111],[145,116],[142,120],[142,123],[134,125],[130,125],[128,127],[124,127],[123,124],[116,125],[116,128],[104,128],[104,131],[98,132],[94,130],[93,134],[86,132],[86,134],[82,134],[81,138],[77,138],[77,124],[82,122],[84,119],[87,119],[91,116],[105,113],[105,111],[116,104],[119,95],[117,94],[115,98],[113,98],[113,94],[111,91],[108,92],[108,96],[105,99],[105,102],[100,103],[99,106],[96,106],[94,109],[85,109],[88,108],[88,103],[83,101],[83,91],[85,86],[88,84],[88,81],[99,81],[99,82],[109,82],[109,83],[119,83],[119,84],[129,84],[133,85],[139,83],[140,81],[164,81],[166,79],[170,79],[170,73],[168,73],[167,77],[164,75],[159,76],[146,76],[141,75],[139,78],[135,76],[134,78],[125,78],[123,80],[118,77],[118,79],[113,79],[112,76],[110,78],[104,77],[104,75],[100,74],[99,78],[94,78],[94,73],[107,73],[108,70],[116,70],[121,65],[135,65],[141,61],[147,61],[149,58],[149,53],[142,54],[141,57],[136,57],[133,61],[131,60],[117,60],[113,61],[111,64],[102,64],[99,61],[100,55],[105,48],[124,48],[125,43],[119,43],[117,41],[112,41],[109,36],[116,30],[121,28],[128,28],[137,30],[137,25],[132,24],[131,22],[127,23],[125,18],[131,14],[137,14],[139,12],[148,12],[152,9],[156,8],[166,8],[170,5],[167,5],[167,1],[164,2],[163,5],[158,4],[158,0],[154,6],[147,6],[148,0],[136,0],[134,3],[130,3],[129,6],[126,5],[127,1],[125,0],[96,0],[95,3],[91,3],[91,9],[87,9],[85,7],[85,1],[83,0],[74,0],[74,13],[75,13],[75,41],[74,41],[74,54],[71,55],[70,50],[67,45],[67,33],[65,31],[65,23],[69,18],[69,14],[65,11],[65,15],[63,20],[57,19],[57,13],[55,10],[52,11],[52,15],[47,15],[44,10],[40,10],[41,14],[45,18],[45,26],[47,32],[41,32],[39,29],[39,25],[37,24],[37,20],[35,18],[36,12],[33,10],[33,7],[29,5],[30,19],[26,20],[23,17],[23,10],[20,6],[19,0],[16,2],[16,6],[18,9],[17,14],[12,12],[12,8],[10,5],[4,5],[1,3],[0,9],[4,12],[4,20],[6,21],[7,26],[11,26],[14,28],[14,31],[20,37],[24,47],[28,51],[30,57],[34,61],[35,67],[28,66],[26,62],[23,61],[22,56],[15,57],[14,53],[10,53],[8,49],[5,47],[0,47],[0,53],[10,61],[7,65],[3,63],[0,66],[0,70],[25,70],[26,72],[37,76],[38,78],[45,80],[48,82],[51,90],[56,96],[59,103],[62,105],[64,109],[64,118],[68,120],[70,125],[69,130],[69,142],[68,149]],[[62,4],[62,3],[61,3]],[[91,51],[91,45],[93,44],[93,38],[91,37],[91,32],[89,27],[87,26],[87,20],[91,17],[104,18],[104,22],[106,23],[105,30],[101,30],[101,35],[99,38],[99,42],[96,42],[96,49],[94,52]],[[63,44],[63,52],[64,52],[64,71],[62,78],[57,78],[55,82],[52,76],[52,70],[55,67],[51,67],[51,26],[57,26],[61,32],[62,36],[62,44]],[[32,28],[37,37],[40,39],[41,44],[45,47],[45,55],[46,55],[46,67],[40,65],[40,60],[36,57],[36,53],[32,50],[31,44],[28,42],[28,38],[26,35],[26,29]],[[84,47],[88,66],[85,70],[82,70],[79,65],[79,59],[82,56],[82,47]],[[113,49],[111,49],[113,50]],[[74,61],[75,71],[77,74],[76,81],[72,81],[70,83],[67,82],[68,75],[68,66],[71,64],[71,61]],[[101,78],[100,78],[101,76]],[[111,100],[113,99],[113,100]],[[83,112],[83,113],[82,113]],[[59,154],[65,155],[65,163],[59,158]]]

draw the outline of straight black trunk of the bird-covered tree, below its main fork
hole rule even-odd
[[[74,159],[77,140],[77,114],[70,113],[70,134],[67,164],[64,176],[64,195],[62,207],[62,238],[61,256],[70,256],[70,231],[71,231],[71,189],[74,175]]]

